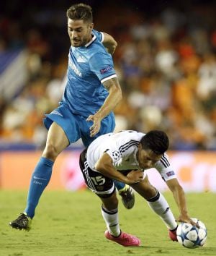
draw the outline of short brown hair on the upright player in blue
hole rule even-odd
[[[73,4],[67,10],[67,17],[71,20],[84,20],[84,22],[92,22],[92,9],[88,4]]]

